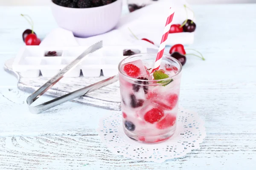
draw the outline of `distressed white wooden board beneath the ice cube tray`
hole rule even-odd
[[[17,87],[25,92],[33,93],[50,78],[47,77],[35,77],[25,78],[20,77],[18,72],[12,70],[13,59],[6,61],[4,65],[5,71],[13,74],[18,79]],[[87,85],[99,82],[108,77],[64,77],[51,89],[49,89],[45,95],[59,97],[64,94],[76,91],[80,88],[84,88]],[[93,91],[86,96],[81,96],[77,99],[73,99],[72,102],[78,102],[86,105],[92,105],[99,108],[105,108],[110,110],[120,110],[120,94],[119,94],[119,82],[115,82],[99,90]]]

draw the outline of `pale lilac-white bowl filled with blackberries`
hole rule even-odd
[[[91,37],[113,29],[122,14],[122,0],[52,0],[59,27],[76,37]]]

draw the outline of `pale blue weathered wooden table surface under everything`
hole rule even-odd
[[[0,169],[8,170],[247,170],[256,168],[256,4],[195,5],[197,31],[183,68],[180,105],[206,122],[201,148],[154,162],[116,156],[102,144],[99,118],[108,111],[67,102],[32,115],[17,79],[0,70]],[[57,25],[49,7],[0,7],[0,63],[24,45],[29,14],[43,38]],[[47,97],[42,98],[44,101]]]

